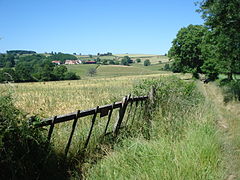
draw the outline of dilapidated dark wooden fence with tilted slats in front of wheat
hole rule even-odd
[[[90,141],[90,138],[91,138],[91,135],[92,135],[92,131],[93,131],[93,128],[94,128],[94,124],[95,124],[95,121],[96,121],[96,117],[97,117],[98,114],[100,114],[100,118],[108,116],[103,135],[112,133],[116,137],[119,134],[119,130],[122,126],[122,121],[123,121],[123,118],[124,118],[124,115],[126,114],[126,112],[128,113],[128,117],[126,119],[125,124],[127,124],[127,121],[128,121],[128,118],[129,118],[129,113],[133,109],[132,108],[133,104],[135,103],[135,105],[136,105],[135,110],[133,111],[133,118],[134,118],[137,107],[139,107],[138,104],[141,103],[141,106],[142,106],[143,102],[147,102],[147,100],[149,98],[151,99],[150,96],[151,96],[151,93],[150,93],[149,96],[139,96],[139,97],[131,97],[131,95],[128,95],[128,96],[124,97],[122,101],[114,102],[113,104],[108,104],[108,105],[104,105],[104,106],[97,106],[96,108],[89,109],[89,110],[83,110],[83,111],[78,110],[74,113],[70,113],[70,114],[66,114],[66,115],[60,115],[60,116],[54,116],[52,118],[43,119],[39,123],[36,123],[35,127],[39,128],[39,127],[44,127],[44,126],[50,126],[49,131],[48,131],[48,141],[50,142],[55,124],[62,123],[62,122],[67,122],[67,121],[73,121],[72,130],[71,130],[71,133],[70,133],[70,136],[69,136],[66,148],[65,148],[65,156],[67,156],[70,145],[71,145],[71,142],[72,142],[72,137],[73,137],[76,125],[77,125],[77,122],[80,118],[92,115],[91,127],[89,129],[87,139],[85,140],[85,143],[84,143],[84,149],[86,149],[88,144],[89,144],[89,141]],[[128,111],[126,111],[128,105],[129,105],[129,108],[128,108]],[[111,121],[111,117],[112,117],[112,113],[113,113],[114,109],[119,110],[118,111],[118,118],[115,121],[113,130],[108,132],[109,123]]]

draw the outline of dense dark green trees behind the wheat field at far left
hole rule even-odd
[[[36,82],[80,79],[73,72],[68,72],[64,65],[52,63],[51,57],[40,54],[29,56],[0,55],[0,82]]]

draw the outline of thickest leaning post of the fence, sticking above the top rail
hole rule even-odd
[[[130,96],[131,95],[126,96],[125,98],[123,98],[122,107],[119,110],[119,118],[117,119],[117,121],[115,123],[115,126],[114,126],[113,134],[115,136],[118,135],[118,132],[119,132],[119,129],[121,127],[121,124],[122,124],[122,121],[123,121],[123,118],[124,118],[124,114],[125,114],[125,111],[126,111],[126,108],[127,108],[127,105],[128,105],[128,100],[129,100]]]

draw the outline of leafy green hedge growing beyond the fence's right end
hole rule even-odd
[[[155,103],[161,107],[164,115],[187,110],[202,99],[202,95],[196,90],[193,82],[186,83],[174,76],[143,80],[142,83],[136,85],[134,94],[148,94],[151,88],[155,89]]]

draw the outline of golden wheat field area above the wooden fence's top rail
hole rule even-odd
[[[13,83],[0,87],[1,91],[11,92],[17,108],[30,115],[50,117],[119,101],[139,80],[163,75]]]

